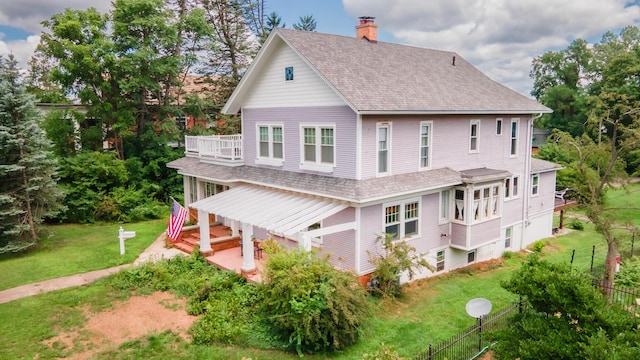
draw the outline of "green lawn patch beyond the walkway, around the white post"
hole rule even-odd
[[[118,229],[136,231],[120,255]],[[166,221],[135,224],[55,225],[45,228],[37,247],[0,256],[0,290],[111,266],[132,263],[164,230]]]

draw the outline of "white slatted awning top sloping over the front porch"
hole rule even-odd
[[[189,207],[292,236],[347,207],[343,201],[240,185]]]

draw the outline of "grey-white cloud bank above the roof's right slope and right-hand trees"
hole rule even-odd
[[[627,0],[343,0],[343,6],[351,16],[375,16],[399,42],[456,51],[526,95],[534,57],[640,21],[640,5]]]

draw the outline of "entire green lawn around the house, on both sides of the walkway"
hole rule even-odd
[[[117,229],[119,225],[63,225],[50,228],[52,236],[43,240],[38,251],[17,258],[0,259],[5,276],[0,288],[56,276],[69,275],[132,262],[165,229],[164,221],[126,225],[137,231],[136,238],[127,240],[127,254],[119,255]],[[585,223],[584,231],[544,240],[541,256],[553,262],[571,261],[573,267],[588,271],[595,245],[595,264],[604,262],[606,246],[593,226]],[[639,246],[640,247],[640,246]],[[401,356],[411,357],[425,351],[429,344],[446,340],[474,323],[465,312],[465,304],[472,298],[484,297],[500,309],[516,300],[500,287],[526,255],[514,254],[504,262],[468,268],[436,278],[417,281],[406,287],[405,296],[396,302],[375,301],[375,311],[364,326],[361,341],[349,349],[331,354],[333,359],[361,359],[384,343],[396,348]],[[57,329],[70,329],[86,321],[81,313],[83,304],[102,308],[109,306],[122,294],[113,294],[105,281],[93,285],[56,291],[0,304],[0,358],[40,359],[60,353],[43,345]],[[258,350],[225,344],[224,346],[196,346],[176,340],[171,334],[150,334],[147,339],[124,345],[106,358],[175,358],[175,359],[294,359],[294,354],[273,350]],[[306,356],[324,359],[325,356]]]

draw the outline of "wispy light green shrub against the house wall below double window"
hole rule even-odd
[[[412,279],[420,268],[435,269],[415,248],[404,240],[395,240],[393,234],[383,234],[376,239],[381,248],[377,254],[369,254],[369,263],[376,269],[369,282],[369,291],[383,297],[398,297],[401,294],[400,275],[406,273]]]

